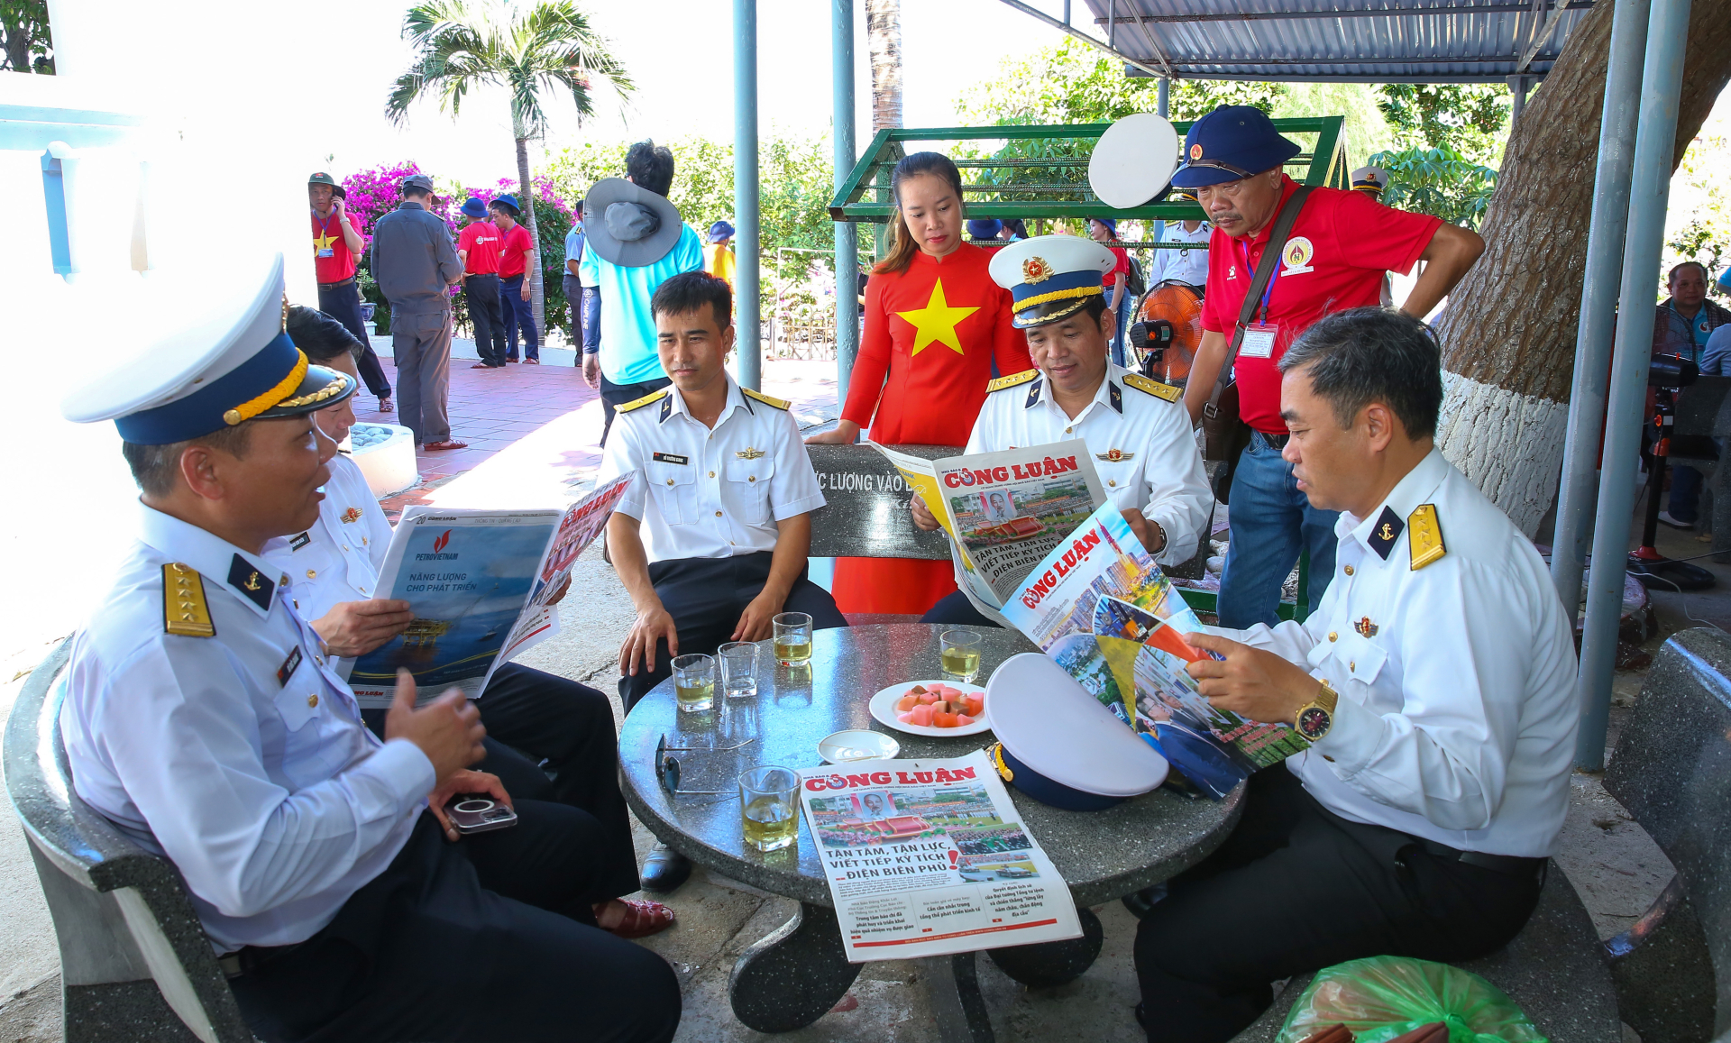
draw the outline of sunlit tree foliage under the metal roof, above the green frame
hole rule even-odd
[[[1006,59],[992,76],[962,93],[957,118],[968,126],[1030,123],[1101,123],[1153,112],[1155,80],[1129,78],[1123,66],[1065,36],[1025,59]],[[1172,119],[1194,119],[1215,106],[1255,106],[1272,111],[1288,92],[1283,83],[1177,80],[1167,104]]]

